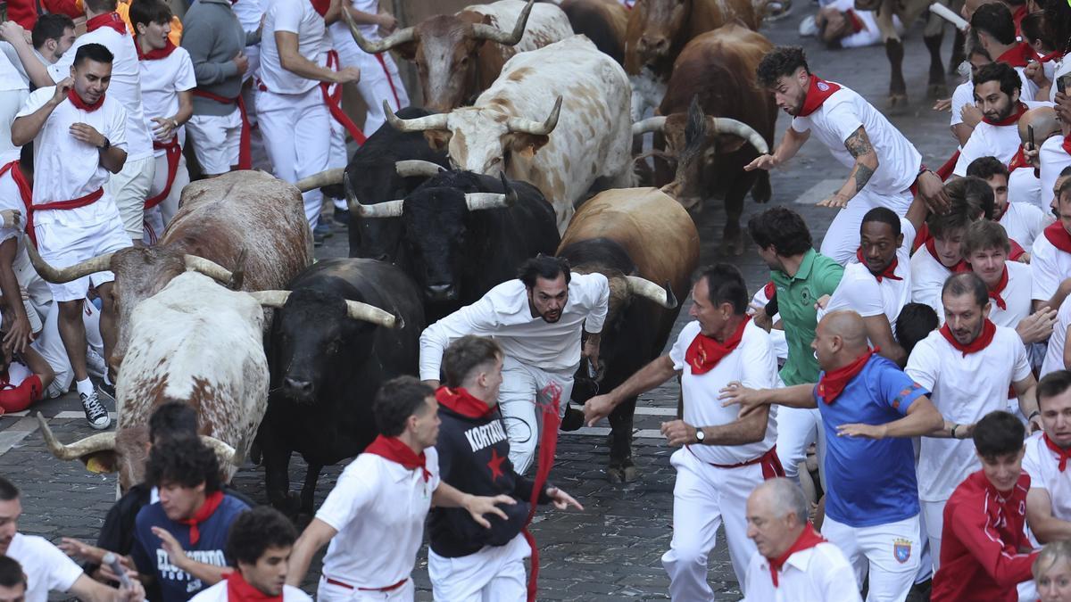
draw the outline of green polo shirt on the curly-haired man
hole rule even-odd
[[[781,270],[770,272],[778,287],[778,311],[788,342],[788,360],[781,368],[781,380],[787,387],[818,381],[818,360],[811,349],[818,326],[814,303],[824,295],[832,295],[842,275],[844,266],[813,249],[803,255],[795,276]]]

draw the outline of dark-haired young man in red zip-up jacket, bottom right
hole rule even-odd
[[[990,412],[975,425],[982,469],[960,483],[945,505],[933,602],[1015,602],[1016,585],[1031,578],[1038,554],[1023,530],[1030,488],[1023,472],[1025,436],[1023,423],[1006,411]]]

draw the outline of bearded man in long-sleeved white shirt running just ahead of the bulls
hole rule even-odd
[[[498,407],[510,439],[510,462],[524,475],[539,439],[537,403],[558,390],[565,410],[582,359],[599,368],[599,343],[609,310],[609,283],[602,274],[574,274],[569,261],[540,255],[525,261],[517,280],[492,288],[482,299],[427,327],[420,335],[420,377],[435,388],[446,348],[466,334],[494,336],[502,347]],[[586,333],[580,349],[580,333]],[[563,428],[580,426],[570,408]]]

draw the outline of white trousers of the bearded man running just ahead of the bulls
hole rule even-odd
[[[510,462],[518,475],[524,475],[536,458],[539,442],[542,407],[550,403],[544,389],[552,382],[561,387],[559,415],[565,411],[573,393],[573,374],[546,372],[523,364],[507,356],[502,360],[502,386],[498,390],[498,407],[506,422],[506,436],[510,439]],[[537,407],[538,406],[538,407]]]

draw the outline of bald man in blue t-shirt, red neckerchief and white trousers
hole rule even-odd
[[[827,314],[811,347],[823,370],[817,386],[751,390],[734,382],[722,397],[744,415],[770,404],[818,407],[826,430],[821,532],[848,557],[857,584],[870,574],[868,600],[903,601],[922,548],[910,437],[940,431],[945,420],[925,389],[869,346],[859,314]]]

